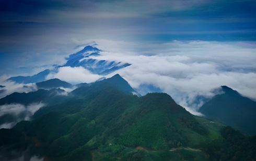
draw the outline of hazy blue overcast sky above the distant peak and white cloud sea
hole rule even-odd
[[[254,0],[2,0],[0,15],[1,75],[63,63],[87,39],[256,40]]]

